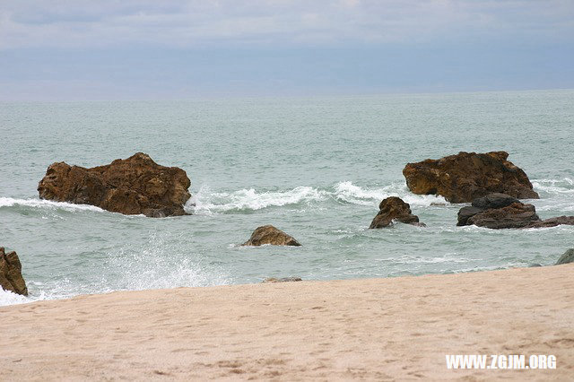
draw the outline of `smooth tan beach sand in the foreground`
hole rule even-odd
[[[0,380],[574,378],[574,265],[123,291],[0,308]],[[451,370],[445,354],[553,354]]]

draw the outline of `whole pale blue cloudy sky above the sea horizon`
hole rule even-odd
[[[0,100],[574,88],[572,0],[0,0]]]

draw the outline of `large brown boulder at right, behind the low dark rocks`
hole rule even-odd
[[[408,163],[403,175],[414,194],[442,195],[450,203],[471,202],[492,193],[538,199],[526,173],[507,161],[508,156],[508,152],[459,152]]]

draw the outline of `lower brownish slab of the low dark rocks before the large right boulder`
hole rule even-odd
[[[500,230],[525,228],[533,221],[540,221],[532,204],[514,203],[502,208],[491,208],[468,218],[467,224]]]

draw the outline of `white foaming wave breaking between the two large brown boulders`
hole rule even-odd
[[[442,196],[410,194],[404,184],[392,184],[382,188],[363,188],[353,185],[350,181],[344,181],[326,189],[300,186],[284,191],[257,191],[254,188],[244,188],[233,192],[213,192],[210,187],[202,186],[187,202],[186,209],[196,214],[229,213],[257,211],[286,205],[313,205],[329,200],[343,204],[377,206],[388,196],[399,196],[406,203],[416,206],[448,204]]]

